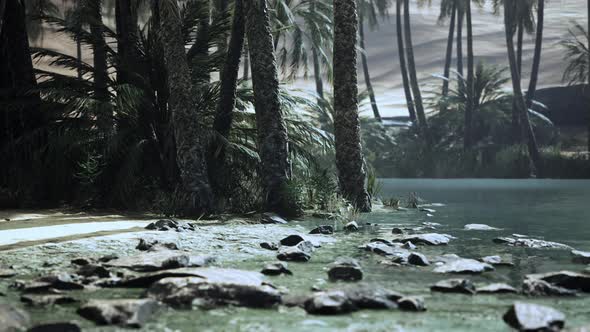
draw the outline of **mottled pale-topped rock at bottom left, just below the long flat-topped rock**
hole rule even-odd
[[[151,299],[91,300],[77,312],[98,325],[141,328],[158,307]]]

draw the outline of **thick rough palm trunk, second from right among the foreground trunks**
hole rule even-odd
[[[287,128],[279,101],[279,80],[266,0],[245,0],[246,34],[252,54],[252,86],[258,153],[267,211],[290,214]]]

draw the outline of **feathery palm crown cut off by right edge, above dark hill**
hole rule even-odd
[[[590,27],[589,27],[590,28]],[[567,67],[563,80],[569,84],[584,84],[590,86],[590,33],[578,23],[570,29],[570,37],[561,42],[565,48]],[[590,123],[588,124],[588,151],[590,151]]]

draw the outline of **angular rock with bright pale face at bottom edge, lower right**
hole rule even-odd
[[[559,331],[565,325],[564,314],[532,303],[516,302],[502,318],[519,331]]]

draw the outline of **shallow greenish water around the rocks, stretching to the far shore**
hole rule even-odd
[[[429,202],[445,206],[433,207],[434,217],[419,211],[393,212],[379,209],[362,216],[362,222],[382,224],[416,224],[437,222],[442,224],[436,232],[456,236],[448,246],[419,247],[418,251],[432,257],[455,253],[463,257],[479,258],[501,254],[511,256],[516,266],[499,267],[494,272],[471,277],[477,283],[505,282],[520,287],[525,274],[560,269],[582,271],[585,266],[571,262],[567,250],[533,250],[513,248],[492,243],[497,236],[512,233],[527,234],[549,241],[571,245],[590,251],[590,181],[554,180],[383,180],[383,196],[405,197],[418,192]],[[305,220],[298,224],[304,229],[325,224],[320,220]],[[501,231],[464,231],[468,223],[483,223],[502,228]],[[216,226],[217,227],[217,226]],[[246,228],[253,226],[240,226]],[[207,228],[202,227],[206,232]],[[283,230],[284,232],[284,230]],[[269,233],[268,240],[278,240],[280,232]],[[377,234],[375,234],[377,233]],[[387,233],[337,233],[337,242],[324,244],[310,262],[290,263],[293,276],[271,277],[279,287],[292,294],[308,294],[312,285],[338,288],[344,285],[327,281],[325,267],[338,256],[352,256],[361,262],[364,282],[380,284],[408,295],[422,296],[427,304],[425,313],[400,311],[360,311],[352,315],[323,317],[310,316],[301,309],[252,310],[225,308],[209,311],[176,311],[167,309],[145,330],[164,331],[509,331],[501,317],[515,300],[531,301],[553,306],[567,316],[566,326],[590,325],[590,296],[577,298],[530,299],[518,295],[454,295],[431,293],[429,286],[447,277],[435,274],[432,267],[392,267],[380,264],[385,258],[357,248],[374,237],[391,238]],[[268,253],[257,254],[258,243],[242,243],[241,250],[253,253],[235,259],[224,259],[220,265],[259,270],[273,262]],[[23,249],[21,249],[23,250]],[[93,248],[97,250],[97,248]],[[58,251],[59,252],[59,251]],[[6,254],[6,253],[4,253]],[[2,258],[2,254],[0,254]],[[6,257],[4,257],[6,259]],[[78,294],[88,297],[125,297],[138,295],[137,291],[108,290]],[[14,299],[9,295],[9,299]],[[0,301],[1,298],[0,298]],[[52,313],[33,311],[36,321],[60,317],[77,319],[75,307],[62,307]],[[115,330],[92,328],[89,331]]]

